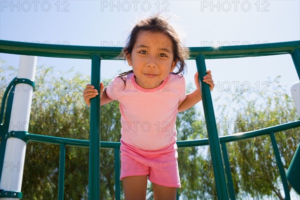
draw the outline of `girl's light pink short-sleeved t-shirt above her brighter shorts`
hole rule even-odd
[[[109,99],[119,101],[121,141],[144,150],[175,144],[178,102],[186,96],[185,78],[169,74],[152,89],[137,85],[133,73],[125,78],[125,88],[119,77],[105,88]]]

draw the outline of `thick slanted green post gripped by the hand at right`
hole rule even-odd
[[[224,166],[222,162],[221,149],[217,134],[216,122],[212,106],[209,85],[203,82],[206,75],[206,66],[204,56],[199,54],[196,56],[197,71],[199,72],[199,83],[202,91],[202,103],[204,116],[206,121],[206,129],[208,133],[208,142],[213,166],[214,180],[217,198],[221,200],[229,199],[226,185]]]

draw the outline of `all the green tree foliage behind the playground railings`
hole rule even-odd
[[[33,94],[29,132],[57,137],[89,138],[89,108],[82,98],[82,91],[89,77],[75,74],[71,79],[66,73],[55,74],[53,68],[38,67],[36,92]],[[16,70],[1,60],[1,95]],[[105,80],[109,82],[109,80]],[[4,84],[3,84],[4,83]],[[7,83],[7,84],[6,84]],[[188,86],[191,89],[191,86]],[[234,129],[220,130],[220,134],[245,132],[277,125],[297,119],[291,98],[274,83],[274,92],[259,93],[253,100],[251,92],[237,91],[230,94],[231,106],[219,109],[222,121],[234,122]],[[252,100],[251,100],[252,99]],[[220,120],[219,120],[220,121]],[[232,124],[232,123],[231,123]],[[177,140],[206,138],[204,119],[195,107],[178,113]],[[286,170],[300,139],[299,128],[275,134],[281,159]],[[119,141],[120,112],[118,102],[101,106],[101,141]],[[255,137],[227,143],[231,174],[238,198],[282,198],[279,172],[268,136]],[[114,199],[113,149],[100,150],[100,197]],[[22,182],[24,199],[56,199],[58,192],[59,145],[30,141],[27,144]],[[212,163],[208,147],[178,149],[178,165],[182,199],[216,199]],[[88,148],[66,147],[65,199],[87,199]],[[122,189],[121,189],[122,196]],[[151,199],[151,187],[148,188]]]

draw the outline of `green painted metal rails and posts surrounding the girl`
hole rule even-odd
[[[205,61],[204,59],[221,59],[221,58],[242,58],[242,57],[255,57],[255,56],[268,56],[268,55],[281,55],[281,54],[291,54],[293,59],[298,77],[300,79],[300,41],[291,41],[291,42],[282,42],[282,43],[269,43],[269,44],[258,44],[258,45],[241,45],[241,46],[228,46],[228,47],[190,47],[190,58],[195,59],[197,64],[197,70],[199,71],[200,77],[205,75]],[[0,40],[0,53],[8,53],[8,54],[19,54],[19,55],[32,55],[32,56],[43,56],[43,57],[57,57],[57,58],[76,58],[76,59],[91,59],[92,60],[92,73],[91,73],[91,84],[95,86],[97,90],[99,90],[99,77],[100,77],[100,59],[105,60],[122,60],[123,58],[118,57],[121,51],[120,47],[84,47],[84,46],[65,46],[65,45],[48,45],[48,44],[34,44],[34,43],[23,43],[23,42],[14,42],[14,41],[4,41]],[[201,80],[200,80],[201,81]],[[228,191],[226,188],[226,181],[224,176],[224,171],[222,167],[222,158],[220,154],[219,143],[222,145],[223,157],[225,161],[225,167],[229,167],[229,162],[226,162],[227,153],[226,152],[226,142],[238,141],[242,139],[248,139],[252,137],[257,137],[265,134],[269,134],[270,132],[278,132],[282,130],[287,130],[290,128],[295,128],[300,126],[300,120],[289,122],[277,126],[272,126],[260,130],[249,131],[246,133],[237,133],[228,136],[218,137],[216,131],[216,123],[214,118],[214,112],[212,107],[212,101],[210,96],[209,88],[206,84],[203,84],[201,81],[202,87],[202,95],[203,95],[203,104],[204,106],[204,114],[205,120],[209,122],[207,126],[208,131],[208,139],[199,139],[199,140],[191,140],[191,141],[177,141],[178,148],[189,147],[189,146],[203,146],[210,145],[212,162],[213,162],[213,170],[215,174],[216,180],[216,188],[217,195],[219,199],[228,199]],[[14,87],[12,87],[13,89]],[[12,91],[12,90],[11,90]],[[10,118],[11,104],[12,104],[12,92],[10,91],[8,99],[11,102],[7,102],[6,112],[5,112],[5,121],[4,124],[0,125],[0,133],[2,137],[1,142],[1,154],[3,151],[3,130],[8,130],[8,123]],[[6,91],[5,91],[6,92]],[[7,94],[6,94],[7,95]],[[4,93],[5,96],[5,93]],[[11,96],[11,98],[10,98]],[[5,99],[2,101],[0,119],[2,122],[3,118],[3,108],[5,105]],[[8,110],[7,110],[8,109]],[[97,96],[91,100],[91,108],[90,108],[90,139],[89,140],[77,140],[70,138],[60,138],[60,137],[52,137],[45,135],[35,135],[35,134],[26,134],[26,138],[30,141],[38,141],[38,142],[47,142],[60,144],[60,155],[63,153],[62,147],[64,148],[65,154],[65,146],[80,146],[80,147],[89,147],[89,199],[99,199],[99,148],[114,148],[115,149],[115,178],[119,177],[119,154],[117,153],[120,146],[119,142],[100,142],[100,99]],[[208,112],[209,111],[209,112]],[[7,113],[8,112],[8,113]],[[211,114],[212,113],[212,114]],[[8,122],[6,123],[6,119]],[[5,126],[6,124],[6,126]],[[4,131],[4,134],[7,131]],[[273,133],[272,133],[273,134]],[[272,139],[271,139],[272,140]],[[277,145],[275,145],[277,147]],[[275,149],[275,148],[274,148]],[[275,150],[274,150],[275,151]],[[275,153],[276,155],[276,153]],[[279,155],[279,153],[278,153]],[[278,156],[277,155],[277,156]],[[64,156],[63,156],[64,157]],[[227,157],[227,158],[226,158]],[[280,155],[279,155],[280,158]],[[60,157],[62,159],[62,157]],[[276,157],[277,159],[277,157]],[[227,159],[228,160],[228,159]],[[0,160],[1,161],[1,160]],[[281,161],[281,160],[280,160]],[[64,161],[63,161],[64,162]],[[64,164],[61,161],[61,166]],[[278,161],[277,161],[278,163]],[[3,161],[1,163],[2,167]],[[228,165],[227,165],[228,164]],[[279,163],[280,164],[280,163]],[[282,163],[281,163],[282,165]],[[279,167],[279,166],[278,166]],[[230,169],[230,168],[228,168]],[[117,171],[118,170],[118,171]],[[1,173],[2,170],[0,170]],[[62,171],[62,168],[59,168],[59,172]],[[280,171],[280,169],[279,169]],[[284,173],[284,170],[283,170]],[[228,180],[228,172],[226,170],[227,180]],[[280,172],[281,175],[281,172]],[[282,177],[283,186],[285,179]],[[63,178],[62,178],[63,179]],[[232,178],[231,178],[232,179]],[[284,180],[285,179],[285,180]],[[228,188],[230,192],[230,198],[232,198],[232,190],[230,189],[230,180],[228,180]],[[119,178],[118,182],[115,182],[116,189],[116,197],[119,196],[119,192],[117,194],[117,190],[119,190]],[[233,188],[233,186],[232,186]],[[59,178],[59,190],[58,198],[61,199],[61,195],[63,197],[63,181]],[[285,196],[286,189],[284,189]],[[62,194],[61,194],[62,193]],[[234,193],[234,190],[233,190]]]

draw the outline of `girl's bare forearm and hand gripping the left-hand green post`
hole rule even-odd
[[[86,105],[89,107],[90,99],[94,98],[97,95],[98,95],[98,91],[94,89],[94,86],[87,84],[85,90],[83,90],[82,96]],[[104,86],[102,82],[100,83],[100,97],[101,97],[101,101],[100,101],[101,106],[111,102],[111,100],[106,95],[106,91],[104,90]]]

